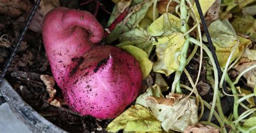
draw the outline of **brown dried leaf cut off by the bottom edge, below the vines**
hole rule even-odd
[[[210,125],[202,125],[202,124],[197,124],[197,125],[188,125],[188,127],[184,130],[184,133],[217,133],[220,132],[219,129],[215,129],[211,127]]]

